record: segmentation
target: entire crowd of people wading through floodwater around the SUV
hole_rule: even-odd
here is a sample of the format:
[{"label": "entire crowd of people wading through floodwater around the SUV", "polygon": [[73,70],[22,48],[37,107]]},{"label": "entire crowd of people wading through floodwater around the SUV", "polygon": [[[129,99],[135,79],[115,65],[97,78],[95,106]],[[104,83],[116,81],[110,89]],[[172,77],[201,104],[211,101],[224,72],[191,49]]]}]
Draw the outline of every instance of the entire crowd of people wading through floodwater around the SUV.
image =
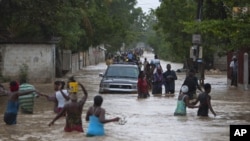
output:
[{"label": "entire crowd of people wading through floodwater around the SUV", "polygon": [[[144,58],[143,63],[140,63],[139,61],[141,54],[138,52],[128,52],[122,56],[116,56],[116,59],[113,61],[128,61],[136,62],[138,64],[140,71],[137,83],[138,98],[150,97],[150,91],[152,95],[162,95],[162,86],[165,87],[165,95],[175,95],[175,81],[178,78],[175,71],[171,69],[171,64],[166,65],[166,71],[164,72],[157,55],[155,55],[155,58],[151,61]],[[107,65],[110,63],[113,62],[108,62]],[[83,92],[81,98],[78,99],[77,92],[69,91],[70,82],[76,82],[80,87]],[[70,77],[67,83],[63,81],[55,81],[55,92],[53,95],[39,92],[33,85],[28,84],[25,80],[21,80],[20,85],[17,81],[11,81],[9,83],[9,88],[9,90],[6,90],[0,85],[0,95],[8,96],[8,103],[4,113],[4,122],[7,125],[17,123],[19,107],[21,112],[32,114],[34,98],[41,96],[54,103],[53,109],[56,116],[49,123],[49,126],[52,126],[59,118],[64,117],[66,120],[64,126],[65,132],[84,132],[82,127],[82,109],[88,98],[88,92],[85,87],[73,77]],[[211,85],[206,83],[203,88],[204,91],[198,84],[195,70],[190,69],[179,91],[174,115],[185,116],[186,108],[198,108],[197,116],[207,117],[209,110],[214,116],[216,116],[210,102],[211,96],[209,93],[211,91]],[[196,94],[197,89],[200,90],[200,94],[198,95]],[[89,122],[86,136],[102,136],[105,135],[104,124],[117,122],[120,118],[105,118],[106,111],[101,107],[103,103],[101,95],[96,95],[93,101],[93,106],[89,107],[85,116],[85,120]],[[197,103],[199,103],[199,105],[197,105]]]}]

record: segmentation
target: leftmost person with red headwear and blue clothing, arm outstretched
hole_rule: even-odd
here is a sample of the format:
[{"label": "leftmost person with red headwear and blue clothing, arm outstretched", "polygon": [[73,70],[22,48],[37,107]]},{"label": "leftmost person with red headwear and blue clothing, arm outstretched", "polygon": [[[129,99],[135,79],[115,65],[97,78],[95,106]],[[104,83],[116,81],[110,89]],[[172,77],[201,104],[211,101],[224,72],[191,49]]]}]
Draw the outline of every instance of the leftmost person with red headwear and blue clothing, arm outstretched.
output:
[{"label": "leftmost person with red headwear and blue clothing, arm outstretched", "polygon": [[26,90],[19,92],[19,84],[16,81],[10,82],[10,91],[4,90],[2,87],[0,88],[1,95],[8,96],[8,103],[6,107],[6,111],[4,113],[4,122],[7,125],[16,124],[18,109],[19,109],[19,96],[28,95],[36,92],[36,90]]}]

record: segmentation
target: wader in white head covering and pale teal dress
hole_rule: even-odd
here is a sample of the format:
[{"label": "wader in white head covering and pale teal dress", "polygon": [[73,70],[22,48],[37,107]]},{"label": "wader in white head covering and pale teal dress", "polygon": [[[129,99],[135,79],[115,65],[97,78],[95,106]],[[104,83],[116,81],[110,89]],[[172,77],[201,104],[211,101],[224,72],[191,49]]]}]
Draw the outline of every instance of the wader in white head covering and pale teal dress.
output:
[{"label": "wader in white head covering and pale teal dress", "polygon": [[180,94],[178,96],[177,106],[174,112],[175,116],[185,116],[187,114],[186,107],[188,108],[198,108],[198,106],[191,105],[189,103],[188,86],[183,85],[181,87]]}]

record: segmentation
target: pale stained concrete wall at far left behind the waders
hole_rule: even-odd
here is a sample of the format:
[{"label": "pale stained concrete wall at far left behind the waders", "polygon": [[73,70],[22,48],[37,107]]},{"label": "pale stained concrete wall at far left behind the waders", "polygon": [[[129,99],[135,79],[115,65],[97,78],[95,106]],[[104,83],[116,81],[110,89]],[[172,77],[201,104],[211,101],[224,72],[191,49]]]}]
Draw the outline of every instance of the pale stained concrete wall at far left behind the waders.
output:
[{"label": "pale stained concrete wall at far left behind the waders", "polygon": [[2,75],[18,79],[20,66],[28,66],[30,82],[53,82],[55,79],[54,44],[1,44]]}]

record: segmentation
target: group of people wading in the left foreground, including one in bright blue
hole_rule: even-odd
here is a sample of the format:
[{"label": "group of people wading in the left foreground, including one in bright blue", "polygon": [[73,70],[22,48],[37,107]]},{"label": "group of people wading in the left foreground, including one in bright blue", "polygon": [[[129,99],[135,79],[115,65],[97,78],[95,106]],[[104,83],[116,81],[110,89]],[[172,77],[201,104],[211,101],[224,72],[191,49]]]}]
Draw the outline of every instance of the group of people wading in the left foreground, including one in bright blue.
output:
[{"label": "group of people wading in the left foreground, including one in bright blue", "polygon": [[[71,92],[69,83],[75,82],[82,90],[83,96],[78,99],[77,92]],[[35,89],[31,84],[26,81],[22,83],[11,81],[9,83],[9,90],[6,90],[0,85],[0,96],[8,96],[6,111],[4,113],[4,122],[6,125],[17,124],[17,115],[19,107],[24,114],[33,114],[34,98],[36,96],[45,97],[48,101],[54,103],[53,111],[56,116],[49,122],[48,126],[52,126],[56,120],[64,117],[66,120],[64,131],[65,132],[84,132],[82,127],[82,109],[88,98],[88,92],[85,87],[75,81],[73,77],[69,78],[65,88],[64,81],[54,82],[54,94],[43,94]],[[26,89],[23,89],[25,87]],[[23,90],[21,90],[23,89]],[[101,95],[94,97],[93,106],[89,107],[86,112],[85,120],[89,123],[86,136],[103,136],[105,135],[104,124],[109,122],[117,122],[119,117],[107,119],[105,118],[106,111],[102,108],[103,98]]]}]

